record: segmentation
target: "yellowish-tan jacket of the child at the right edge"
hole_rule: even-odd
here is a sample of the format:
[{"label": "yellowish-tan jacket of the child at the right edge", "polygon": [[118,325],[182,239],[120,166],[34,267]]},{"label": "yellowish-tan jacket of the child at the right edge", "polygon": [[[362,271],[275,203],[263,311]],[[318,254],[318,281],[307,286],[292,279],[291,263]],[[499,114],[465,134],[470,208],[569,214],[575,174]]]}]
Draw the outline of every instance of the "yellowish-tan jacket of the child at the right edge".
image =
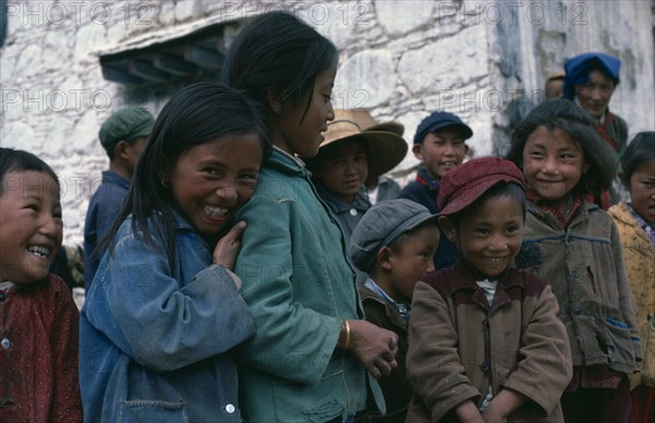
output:
[{"label": "yellowish-tan jacket of the child at the right edge", "polygon": [[[626,271],[635,303],[636,325],[640,328],[642,354],[644,358],[641,374],[636,374],[644,385],[655,386],[655,245],[636,223],[626,203],[609,209],[623,245]],[[639,382],[639,380],[636,380]]]}]

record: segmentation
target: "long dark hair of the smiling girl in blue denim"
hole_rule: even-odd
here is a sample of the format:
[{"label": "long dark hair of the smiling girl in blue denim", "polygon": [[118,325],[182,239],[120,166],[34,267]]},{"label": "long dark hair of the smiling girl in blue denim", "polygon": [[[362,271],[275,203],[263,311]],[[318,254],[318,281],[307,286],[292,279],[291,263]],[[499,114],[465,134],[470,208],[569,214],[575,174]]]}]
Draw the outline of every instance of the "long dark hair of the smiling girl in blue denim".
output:
[{"label": "long dark hair of the smiling girl in blue denim", "polygon": [[262,145],[262,159],[265,159],[272,148],[265,133],[265,117],[261,106],[242,92],[211,82],[180,89],[157,117],[150,141],[136,164],[122,210],[102,244],[107,246],[122,221],[132,215],[132,231],[154,246],[146,222],[156,211],[163,217],[163,234],[174,268],[174,201],[170,188],[162,183],[162,171],[174,166],[181,153],[230,134],[257,134]]}]

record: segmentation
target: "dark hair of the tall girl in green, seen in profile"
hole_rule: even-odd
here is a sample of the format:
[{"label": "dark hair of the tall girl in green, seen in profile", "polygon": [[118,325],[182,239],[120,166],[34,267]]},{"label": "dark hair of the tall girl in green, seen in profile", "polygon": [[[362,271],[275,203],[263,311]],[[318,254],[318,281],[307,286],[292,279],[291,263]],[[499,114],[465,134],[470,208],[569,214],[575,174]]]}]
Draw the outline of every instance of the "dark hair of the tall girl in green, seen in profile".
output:
[{"label": "dark hair of the tall girl in green, seen in profile", "polygon": [[[245,89],[266,109],[271,93],[284,110],[311,93],[317,76],[337,61],[332,41],[293,14],[275,11],[257,16],[237,35],[222,81]],[[311,96],[306,113],[310,101]]]}]

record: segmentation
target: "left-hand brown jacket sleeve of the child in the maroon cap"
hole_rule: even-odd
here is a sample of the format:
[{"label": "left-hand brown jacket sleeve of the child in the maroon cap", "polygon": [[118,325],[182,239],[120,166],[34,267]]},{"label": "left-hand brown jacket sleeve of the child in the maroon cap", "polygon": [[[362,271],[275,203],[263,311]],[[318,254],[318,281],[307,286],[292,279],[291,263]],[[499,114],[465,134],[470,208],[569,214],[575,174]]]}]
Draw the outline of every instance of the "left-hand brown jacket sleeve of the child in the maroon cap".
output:
[{"label": "left-hand brown jacket sleeve of the child in the maroon cap", "polygon": [[457,334],[445,300],[418,282],[408,328],[407,377],[433,422],[480,392],[471,385],[457,352]]}]

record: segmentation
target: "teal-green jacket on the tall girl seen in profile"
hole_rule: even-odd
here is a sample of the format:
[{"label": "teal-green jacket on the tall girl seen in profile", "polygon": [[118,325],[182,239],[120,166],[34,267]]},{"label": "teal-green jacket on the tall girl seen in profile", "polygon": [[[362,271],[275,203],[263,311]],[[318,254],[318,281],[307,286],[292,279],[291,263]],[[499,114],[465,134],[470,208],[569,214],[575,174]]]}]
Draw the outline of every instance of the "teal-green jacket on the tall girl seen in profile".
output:
[{"label": "teal-green jacket on the tall girl seen in profile", "polygon": [[364,313],[344,235],[309,176],[275,148],[236,217],[248,227],[235,271],[257,328],[236,352],[246,421],[345,418],[364,411],[367,399],[384,411],[374,378],[335,349],[342,319]]}]

